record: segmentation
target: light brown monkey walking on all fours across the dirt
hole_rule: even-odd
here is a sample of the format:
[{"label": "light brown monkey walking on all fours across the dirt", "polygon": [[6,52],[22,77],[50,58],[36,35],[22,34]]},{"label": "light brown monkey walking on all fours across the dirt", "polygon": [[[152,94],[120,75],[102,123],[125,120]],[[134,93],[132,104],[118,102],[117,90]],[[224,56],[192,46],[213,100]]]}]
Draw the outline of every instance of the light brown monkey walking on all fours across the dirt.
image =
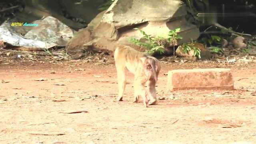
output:
[{"label": "light brown monkey walking on all fours across the dirt", "polygon": [[156,104],[155,86],[160,72],[160,62],[153,56],[138,52],[130,46],[117,46],[114,50],[114,60],[118,79],[117,100],[122,101],[126,86],[126,70],[128,70],[134,74],[134,102],[139,102],[140,96],[145,107]]}]

